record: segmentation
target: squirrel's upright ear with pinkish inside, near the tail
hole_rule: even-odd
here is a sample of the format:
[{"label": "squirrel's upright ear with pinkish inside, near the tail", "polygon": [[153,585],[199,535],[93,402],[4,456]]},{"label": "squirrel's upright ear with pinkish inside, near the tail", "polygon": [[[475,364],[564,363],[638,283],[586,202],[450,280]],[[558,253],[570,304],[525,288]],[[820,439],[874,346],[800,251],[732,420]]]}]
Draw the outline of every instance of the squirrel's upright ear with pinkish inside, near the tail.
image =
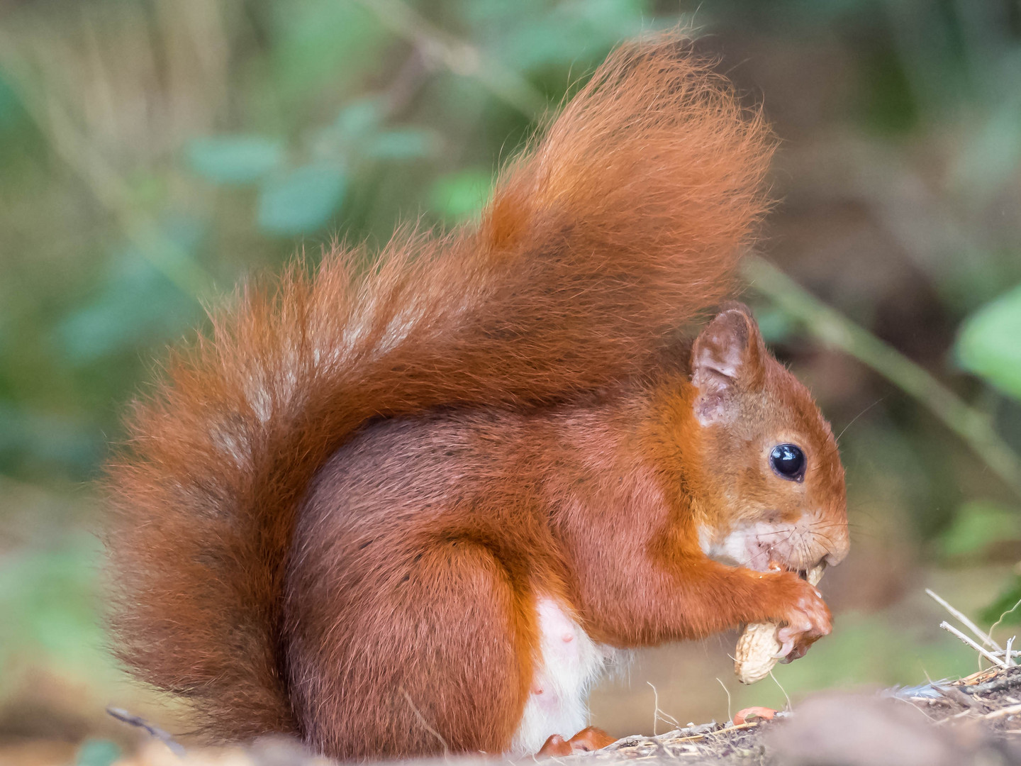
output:
[{"label": "squirrel's upright ear with pinkish inside, near the tail", "polygon": [[751,309],[727,303],[691,347],[691,382],[698,389],[695,416],[703,426],[728,419],[736,390],[762,384],[766,354]]}]

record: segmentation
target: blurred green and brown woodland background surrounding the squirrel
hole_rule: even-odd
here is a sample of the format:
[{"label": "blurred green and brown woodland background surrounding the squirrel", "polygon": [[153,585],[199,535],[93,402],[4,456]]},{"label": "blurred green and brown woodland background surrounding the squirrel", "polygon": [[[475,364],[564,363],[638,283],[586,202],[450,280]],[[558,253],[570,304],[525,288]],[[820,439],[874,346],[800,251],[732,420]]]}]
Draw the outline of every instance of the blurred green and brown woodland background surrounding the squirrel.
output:
[{"label": "blurred green and brown woodland background surrounding the squirrel", "polygon": [[983,627],[1021,599],[1021,2],[2,0],[0,760],[109,763],[107,705],[180,730],[104,649],[93,481],[203,304],[472,217],[617,42],[679,21],[783,141],[744,299],[840,433],[854,545],[776,681],[738,687],[734,635],[658,649],[594,723],[978,668],[924,589]]}]

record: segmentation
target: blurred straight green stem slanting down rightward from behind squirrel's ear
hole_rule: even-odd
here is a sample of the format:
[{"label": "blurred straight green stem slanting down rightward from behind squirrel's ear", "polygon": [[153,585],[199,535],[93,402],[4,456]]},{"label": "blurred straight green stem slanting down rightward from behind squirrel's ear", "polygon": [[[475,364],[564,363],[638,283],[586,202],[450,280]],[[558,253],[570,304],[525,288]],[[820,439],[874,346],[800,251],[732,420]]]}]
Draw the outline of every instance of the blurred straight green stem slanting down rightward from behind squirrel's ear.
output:
[{"label": "blurred straight green stem slanting down rightward from behind squirrel's ear", "polygon": [[772,264],[749,258],[744,273],[756,290],[800,321],[824,344],[850,354],[928,409],[1021,496],[1021,458],[996,433],[986,415],[964,401],[924,368],[823,303]]}]

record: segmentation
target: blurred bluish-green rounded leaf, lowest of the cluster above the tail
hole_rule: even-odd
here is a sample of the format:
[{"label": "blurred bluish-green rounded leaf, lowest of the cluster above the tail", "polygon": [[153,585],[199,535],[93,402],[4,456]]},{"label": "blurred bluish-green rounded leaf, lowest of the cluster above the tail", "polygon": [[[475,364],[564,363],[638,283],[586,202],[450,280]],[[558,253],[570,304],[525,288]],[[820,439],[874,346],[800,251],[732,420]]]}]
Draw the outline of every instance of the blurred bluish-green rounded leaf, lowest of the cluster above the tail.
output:
[{"label": "blurred bluish-green rounded leaf, lowest of the cluster above the tail", "polygon": [[334,163],[308,164],[262,187],[258,225],[271,234],[307,234],[323,227],[344,198],[347,178]]}]

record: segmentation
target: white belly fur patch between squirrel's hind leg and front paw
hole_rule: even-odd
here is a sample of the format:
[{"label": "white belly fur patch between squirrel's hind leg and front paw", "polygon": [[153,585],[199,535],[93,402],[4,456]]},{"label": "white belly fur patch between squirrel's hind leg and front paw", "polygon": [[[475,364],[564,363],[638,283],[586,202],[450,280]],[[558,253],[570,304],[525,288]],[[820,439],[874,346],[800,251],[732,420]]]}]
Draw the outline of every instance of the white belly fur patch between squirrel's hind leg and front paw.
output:
[{"label": "white belly fur patch between squirrel's hind leg and front paw", "polygon": [[551,599],[536,603],[539,651],[531,693],[510,745],[510,753],[536,753],[550,734],[565,739],[588,725],[588,692],[616,650],[593,641]]}]

